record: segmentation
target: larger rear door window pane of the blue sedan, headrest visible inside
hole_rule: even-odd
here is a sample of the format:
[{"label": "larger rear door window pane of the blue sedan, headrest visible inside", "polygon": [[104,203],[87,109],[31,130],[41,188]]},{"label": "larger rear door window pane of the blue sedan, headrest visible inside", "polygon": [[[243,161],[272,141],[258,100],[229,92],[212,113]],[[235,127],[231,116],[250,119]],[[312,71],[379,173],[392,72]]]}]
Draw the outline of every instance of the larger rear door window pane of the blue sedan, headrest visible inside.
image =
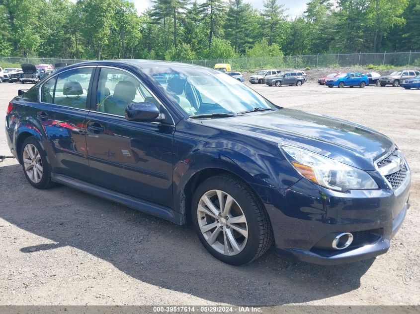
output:
[{"label": "larger rear door window pane of the blue sedan, headrest visible inside", "polygon": [[92,68],[84,67],[61,73],[57,77],[53,103],[72,108],[86,109],[87,88]]}]

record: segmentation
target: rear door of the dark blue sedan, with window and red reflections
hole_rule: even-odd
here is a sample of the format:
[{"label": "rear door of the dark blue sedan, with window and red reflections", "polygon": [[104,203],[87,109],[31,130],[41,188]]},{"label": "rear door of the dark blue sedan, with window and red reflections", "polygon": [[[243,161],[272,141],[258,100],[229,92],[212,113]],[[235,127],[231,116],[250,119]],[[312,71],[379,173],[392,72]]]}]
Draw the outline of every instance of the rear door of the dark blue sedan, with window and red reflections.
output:
[{"label": "rear door of the dark blue sedan, with window and red reflections", "polygon": [[85,119],[95,66],[62,72],[41,86],[35,117],[47,135],[52,171],[89,181]]}]

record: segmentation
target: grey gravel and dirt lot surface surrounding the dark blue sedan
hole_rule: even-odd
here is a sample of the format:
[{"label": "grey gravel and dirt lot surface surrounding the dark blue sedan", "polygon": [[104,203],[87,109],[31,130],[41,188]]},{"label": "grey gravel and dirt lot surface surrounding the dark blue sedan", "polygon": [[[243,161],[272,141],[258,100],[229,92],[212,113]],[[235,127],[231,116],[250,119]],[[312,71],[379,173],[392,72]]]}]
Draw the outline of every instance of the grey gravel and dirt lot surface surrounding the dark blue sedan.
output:
[{"label": "grey gravel and dirt lot surface surrounding the dark blue sedan", "polygon": [[[20,84],[0,84],[0,112]],[[36,190],[0,163],[1,305],[420,304],[420,90],[252,85],[273,102],[337,116],[393,138],[413,171],[411,208],[390,251],[324,267],[272,251],[234,267],[192,228],[59,186]],[[0,119],[0,155],[9,155]]]}]

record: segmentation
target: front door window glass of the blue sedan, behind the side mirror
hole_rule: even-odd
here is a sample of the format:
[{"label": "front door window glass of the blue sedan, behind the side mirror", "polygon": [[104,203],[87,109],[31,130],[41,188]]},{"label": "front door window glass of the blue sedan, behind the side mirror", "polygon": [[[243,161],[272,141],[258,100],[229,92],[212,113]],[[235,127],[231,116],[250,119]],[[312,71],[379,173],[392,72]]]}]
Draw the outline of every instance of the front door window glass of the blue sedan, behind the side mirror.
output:
[{"label": "front door window glass of the blue sedan, behind the side mirror", "polygon": [[132,103],[151,102],[160,108],[159,102],[132,74],[114,68],[101,68],[96,111],[125,116],[125,108]]}]

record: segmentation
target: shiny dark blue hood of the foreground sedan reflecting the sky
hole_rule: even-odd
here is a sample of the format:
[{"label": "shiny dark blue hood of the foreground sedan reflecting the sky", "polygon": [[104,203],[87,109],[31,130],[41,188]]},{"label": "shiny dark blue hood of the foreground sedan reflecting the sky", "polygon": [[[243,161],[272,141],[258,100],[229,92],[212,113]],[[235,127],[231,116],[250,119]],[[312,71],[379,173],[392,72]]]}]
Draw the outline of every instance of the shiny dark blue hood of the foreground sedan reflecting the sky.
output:
[{"label": "shiny dark blue hood of the foreground sedan reflecting the sky", "polygon": [[286,108],[202,120],[202,123],[246,136],[299,146],[366,171],[375,170],[373,161],[394,146],[390,138],[373,129]]}]

